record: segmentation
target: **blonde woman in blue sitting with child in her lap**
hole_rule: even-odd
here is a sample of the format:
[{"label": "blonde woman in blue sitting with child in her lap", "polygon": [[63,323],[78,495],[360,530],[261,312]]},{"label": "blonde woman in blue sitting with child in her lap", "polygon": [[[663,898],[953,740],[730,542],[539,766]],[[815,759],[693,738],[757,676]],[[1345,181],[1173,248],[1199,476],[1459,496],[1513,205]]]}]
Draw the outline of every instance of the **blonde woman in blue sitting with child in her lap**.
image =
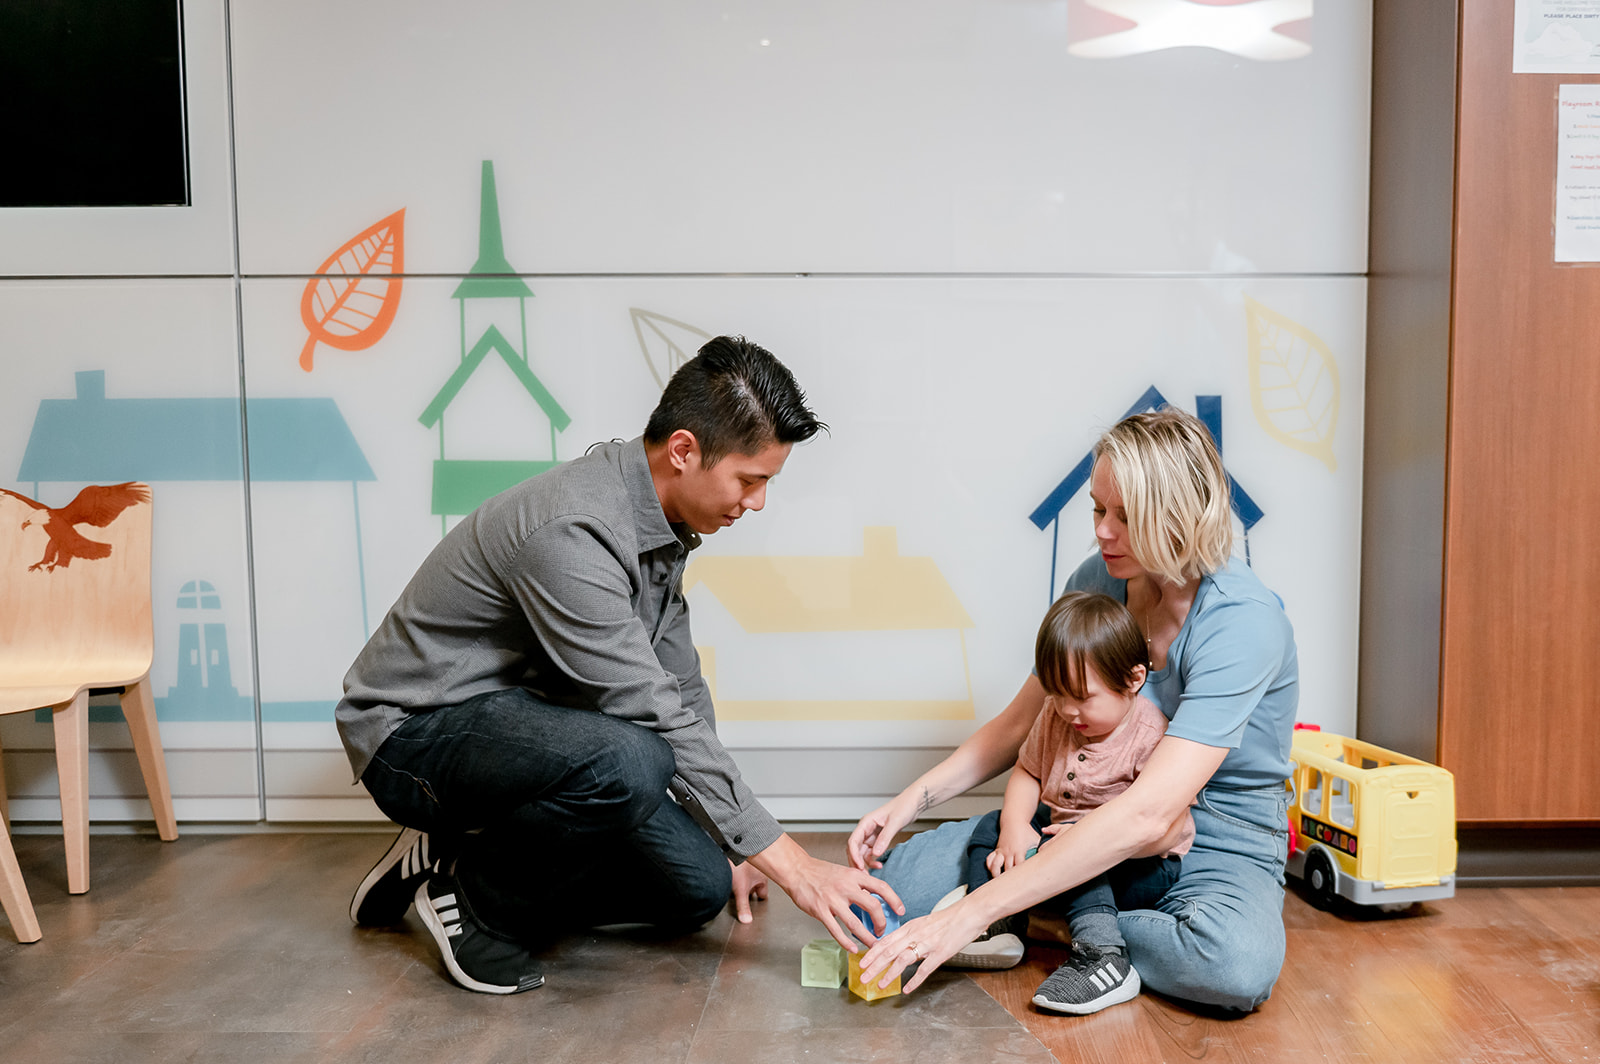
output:
[{"label": "blonde woman in blue sitting with child in her lap", "polygon": [[1166,408],[1118,422],[1094,446],[1090,494],[1099,552],[1066,590],[1102,592],[1133,613],[1147,646],[1141,693],[1168,718],[1166,734],[1126,790],[1029,861],[930,912],[962,880],[976,818],[893,851],[890,842],[1016,762],[1045,706],[1045,688],[1030,675],[998,717],[851,834],[851,862],[882,867],[907,917],[918,917],[866,954],[864,976],[882,981],[922,962],[906,984],[914,990],[997,920],[1130,858],[1166,853],[1192,813],[1195,838],[1176,883],[1152,907],[1122,910],[1118,930],[1146,987],[1248,1011],[1283,968],[1294,634],[1278,598],[1230,557],[1227,474],[1197,418]]}]

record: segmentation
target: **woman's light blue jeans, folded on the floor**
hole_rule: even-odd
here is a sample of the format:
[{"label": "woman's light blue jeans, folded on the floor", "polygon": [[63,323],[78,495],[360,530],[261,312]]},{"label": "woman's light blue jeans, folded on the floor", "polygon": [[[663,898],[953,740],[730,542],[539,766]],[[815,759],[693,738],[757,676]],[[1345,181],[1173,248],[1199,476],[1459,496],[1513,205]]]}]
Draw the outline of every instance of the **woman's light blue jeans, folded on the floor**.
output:
[{"label": "woman's light blue jeans, folded on the floor", "polygon": [[[1186,1002],[1250,1011],[1283,970],[1283,861],[1288,792],[1206,787],[1190,810],[1195,843],[1155,909],[1118,914],[1144,986]],[[978,818],[941,824],[890,851],[878,875],[926,915],[962,883]]]}]

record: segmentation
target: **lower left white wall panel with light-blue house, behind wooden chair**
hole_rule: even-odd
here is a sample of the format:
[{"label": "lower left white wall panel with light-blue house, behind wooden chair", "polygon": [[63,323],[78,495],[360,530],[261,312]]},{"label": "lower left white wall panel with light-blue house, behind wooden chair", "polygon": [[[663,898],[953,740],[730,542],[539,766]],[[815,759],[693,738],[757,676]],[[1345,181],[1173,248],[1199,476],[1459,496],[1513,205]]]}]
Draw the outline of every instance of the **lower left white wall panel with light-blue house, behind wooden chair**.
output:
[{"label": "lower left white wall panel with light-blue house, behind wooden chair", "polygon": [[[234,798],[248,797],[246,819],[259,818],[232,282],[6,282],[0,322],[0,486],[59,507],[85,483],[150,483],[150,682],[173,797],[205,819],[235,816]],[[90,714],[120,717],[114,704]],[[53,749],[32,717],[5,730],[8,755]],[[126,728],[94,725],[91,742],[99,773]],[[96,797],[117,797],[115,779],[142,798],[136,774],[94,779]],[[22,797],[53,789],[30,773],[8,784]]]}]

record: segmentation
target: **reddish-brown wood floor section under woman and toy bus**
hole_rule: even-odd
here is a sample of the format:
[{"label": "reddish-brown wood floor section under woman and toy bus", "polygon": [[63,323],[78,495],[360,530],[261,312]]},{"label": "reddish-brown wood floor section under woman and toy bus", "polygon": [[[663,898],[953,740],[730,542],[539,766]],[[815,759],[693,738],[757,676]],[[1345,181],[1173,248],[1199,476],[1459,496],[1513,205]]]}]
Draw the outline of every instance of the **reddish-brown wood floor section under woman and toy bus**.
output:
[{"label": "reddish-brown wood floor section under woman and toy bus", "polygon": [[1333,915],[1291,886],[1288,963],[1245,1018],[1155,994],[1062,1019],[1029,998],[1058,946],[974,973],[1058,1061],[1600,1061],[1600,886],[1462,890],[1405,914]]}]

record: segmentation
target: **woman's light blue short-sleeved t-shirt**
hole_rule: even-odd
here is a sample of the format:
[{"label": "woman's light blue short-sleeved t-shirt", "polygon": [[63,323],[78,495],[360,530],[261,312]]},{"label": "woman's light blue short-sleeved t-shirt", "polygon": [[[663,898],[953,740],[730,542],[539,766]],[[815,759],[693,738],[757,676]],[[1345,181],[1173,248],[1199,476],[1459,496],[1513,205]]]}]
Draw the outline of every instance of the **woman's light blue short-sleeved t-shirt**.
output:
[{"label": "woman's light blue short-sleeved t-shirt", "polygon": [[[1128,581],[1107,573],[1099,554],[1067,578],[1064,590],[1128,602]],[[1294,629],[1277,595],[1242,562],[1200,581],[1166,667],[1149,675],[1141,694],[1166,714],[1166,734],[1227,747],[1213,784],[1264,787],[1288,779],[1299,706]]]}]

